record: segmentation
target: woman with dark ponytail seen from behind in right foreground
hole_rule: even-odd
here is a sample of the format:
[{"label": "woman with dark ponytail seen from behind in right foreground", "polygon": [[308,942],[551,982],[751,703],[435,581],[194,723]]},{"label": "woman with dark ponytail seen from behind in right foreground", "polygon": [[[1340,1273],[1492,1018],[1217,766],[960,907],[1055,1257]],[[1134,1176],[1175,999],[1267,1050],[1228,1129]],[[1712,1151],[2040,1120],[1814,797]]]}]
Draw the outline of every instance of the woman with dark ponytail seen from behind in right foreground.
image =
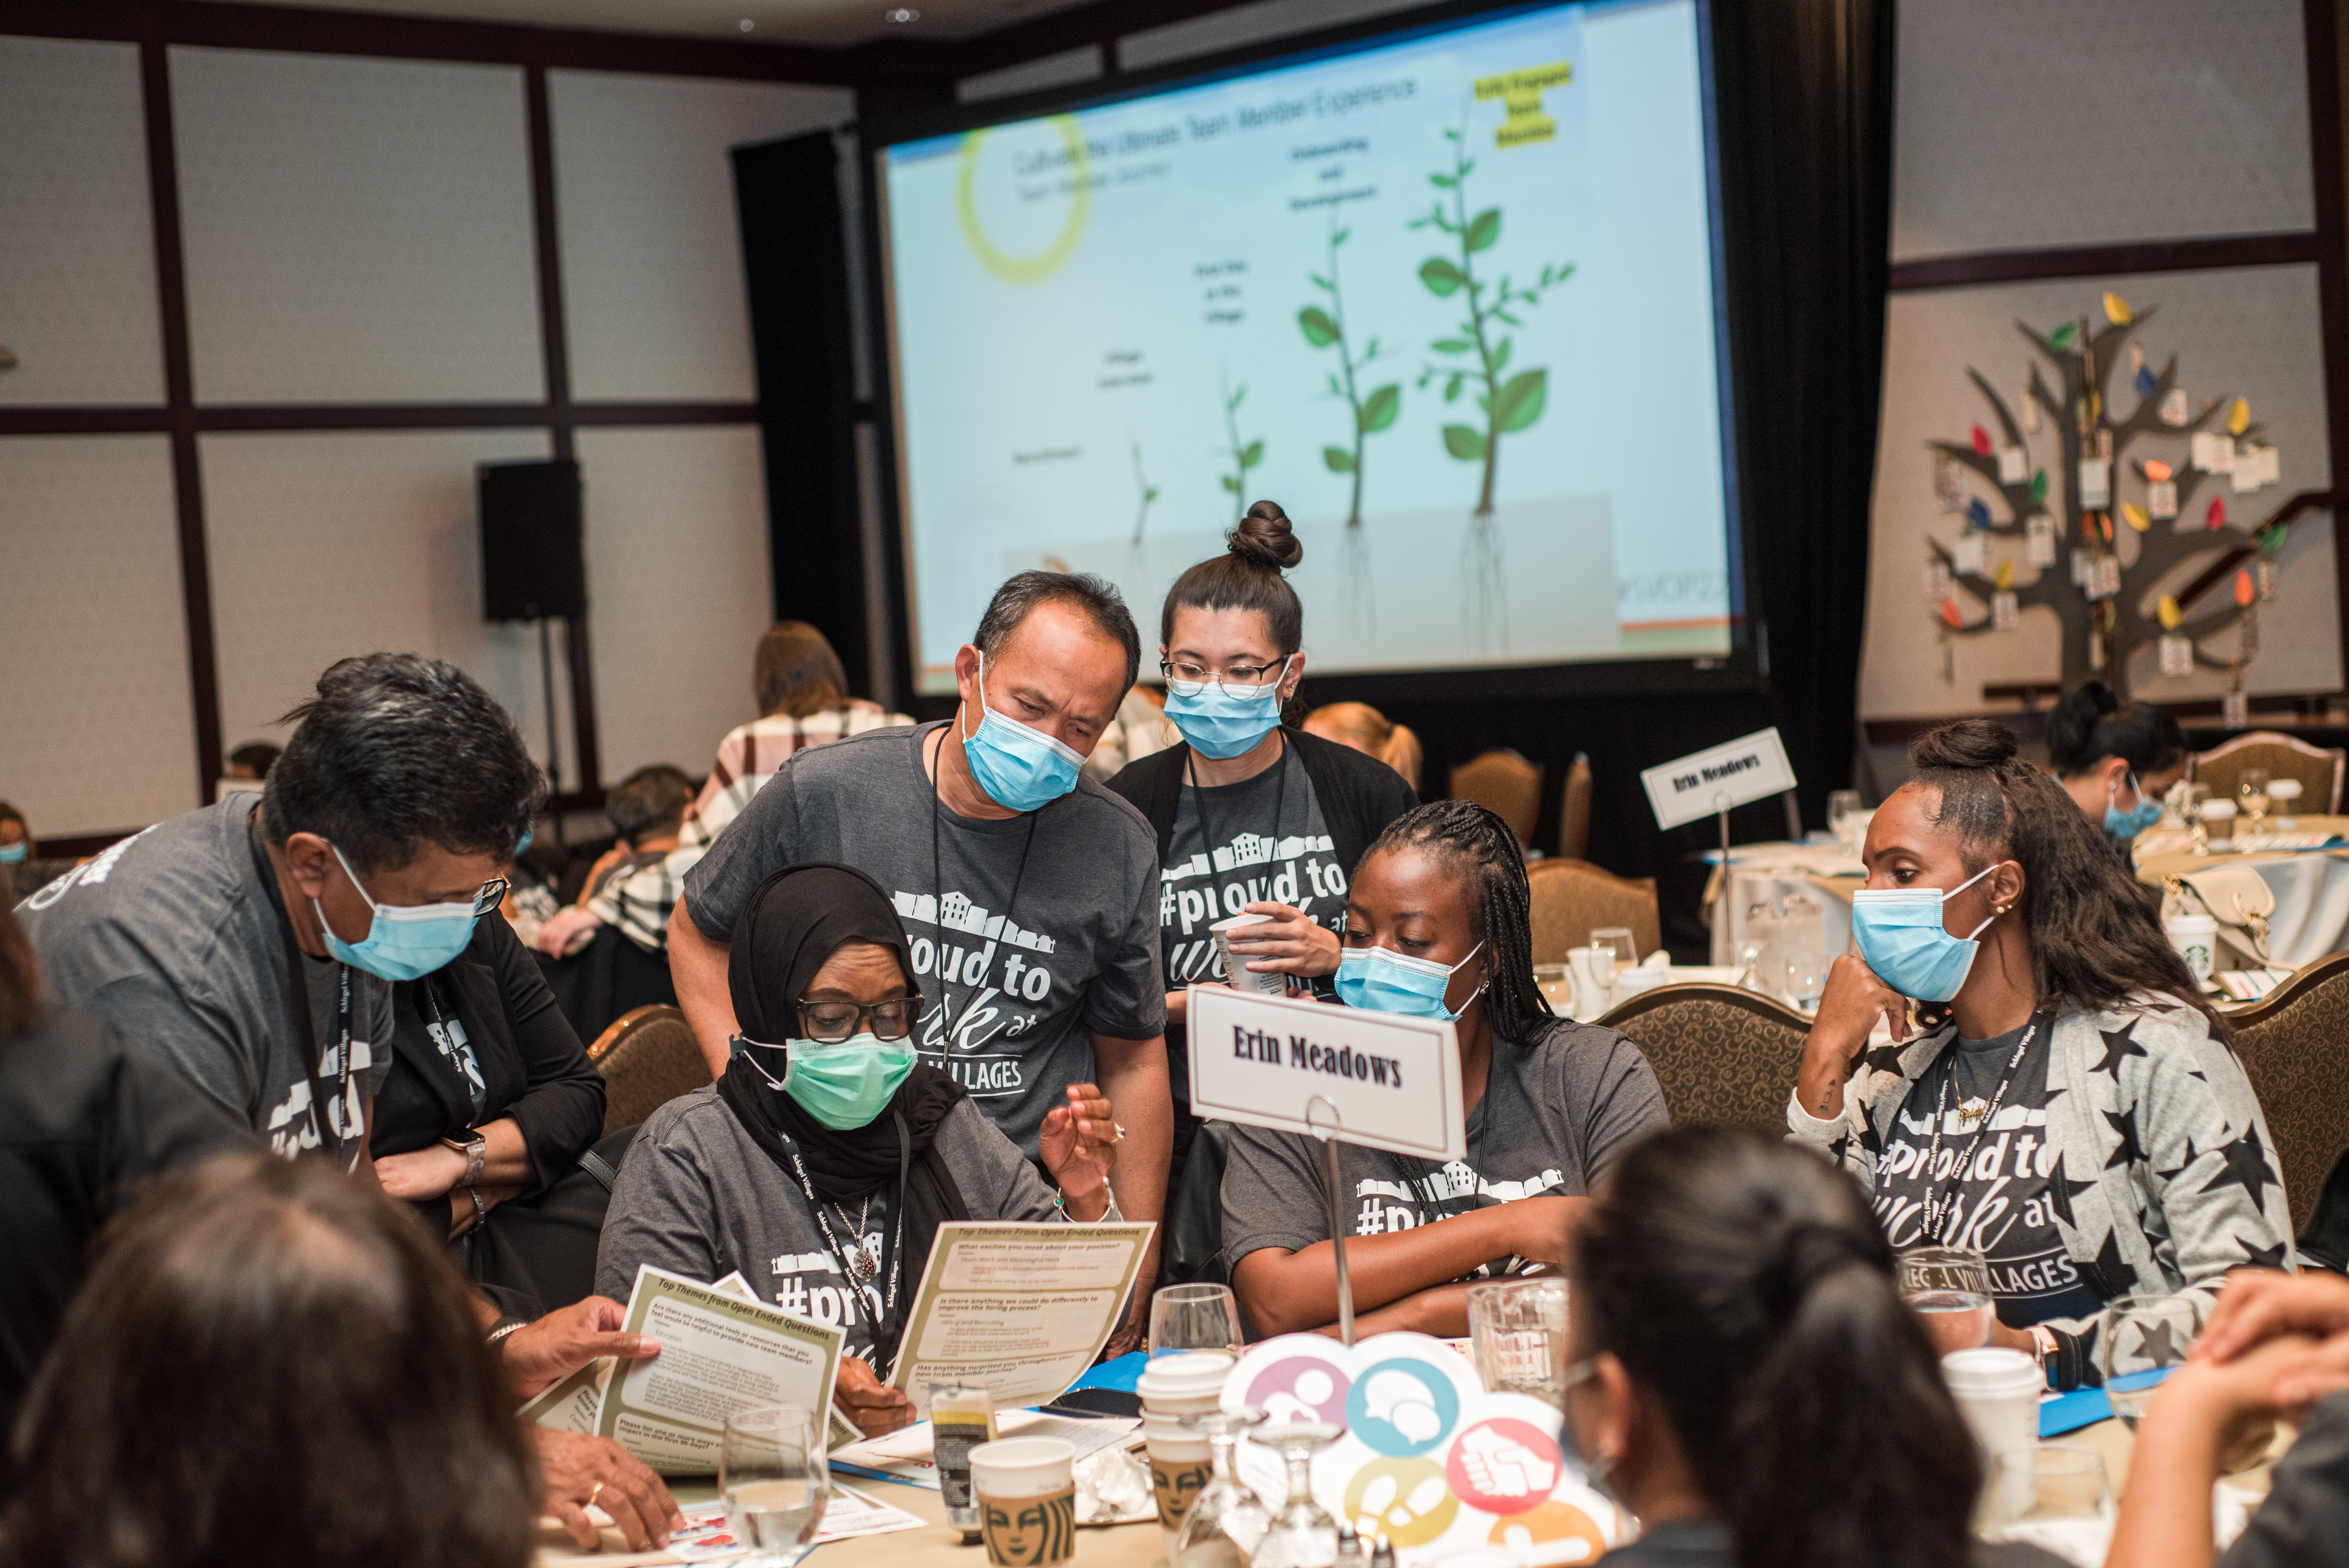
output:
[{"label": "woman with dark ponytail seen from behind in right foreground", "polygon": [[1609,1563],[2058,1566],[1968,1542],[1973,1437],[1825,1160],[1731,1127],[1640,1143],[1583,1216],[1571,1289],[1569,1437],[1640,1516]]}]

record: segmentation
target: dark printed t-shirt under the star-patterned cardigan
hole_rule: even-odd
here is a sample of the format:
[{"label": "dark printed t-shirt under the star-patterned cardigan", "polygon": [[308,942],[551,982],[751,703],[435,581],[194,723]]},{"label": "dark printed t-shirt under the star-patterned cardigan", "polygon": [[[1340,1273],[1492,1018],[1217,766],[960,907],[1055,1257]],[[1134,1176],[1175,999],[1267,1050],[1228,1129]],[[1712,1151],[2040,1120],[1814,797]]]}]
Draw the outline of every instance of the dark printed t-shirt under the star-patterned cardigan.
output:
[{"label": "dark printed t-shirt under the star-patterned cardigan", "polygon": [[[2048,1192],[2048,1171],[2055,1169],[2055,1150],[2048,1145],[2051,1030],[2041,1028],[2032,1038],[2022,1061],[2013,1066],[2004,1099],[1999,1096],[1999,1082],[2008,1080],[2006,1063],[2030,1028],[2025,1023],[1994,1040],[1957,1038],[1910,1089],[1877,1160],[1877,1221],[1891,1244],[1980,1251],[1990,1258],[1990,1289],[1999,1303],[1999,1322],[2008,1329],[2053,1317],[2093,1317],[2105,1307],[2102,1293],[2065,1251],[2055,1228],[2058,1195]],[[1992,1099],[1999,1108],[1985,1129]],[[1957,1178],[1959,1160],[1966,1160],[1964,1178]],[[1943,1232],[1926,1235],[1926,1202],[1938,1207],[1952,1181],[1954,1202]]]}]

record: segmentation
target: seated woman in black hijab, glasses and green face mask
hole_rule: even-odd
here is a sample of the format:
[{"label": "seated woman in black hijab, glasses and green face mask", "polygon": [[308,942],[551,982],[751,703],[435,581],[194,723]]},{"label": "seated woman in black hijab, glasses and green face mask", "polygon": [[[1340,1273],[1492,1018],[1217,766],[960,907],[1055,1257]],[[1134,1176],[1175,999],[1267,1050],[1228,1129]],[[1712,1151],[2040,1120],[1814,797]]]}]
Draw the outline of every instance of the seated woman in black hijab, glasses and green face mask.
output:
[{"label": "seated woman in black hijab, glasses and green face mask", "polygon": [[914,1418],[876,1366],[944,1221],[1116,1221],[1109,1101],[1071,1084],[1038,1136],[1055,1195],[963,1087],[914,1059],[923,995],[904,925],[853,866],[785,866],[735,922],[733,1059],[646,1122],[620,1167],[597,1289],[637,1268],[740,1270],[761,1300],[848,1333],[836,1399],[879,1437]]}]

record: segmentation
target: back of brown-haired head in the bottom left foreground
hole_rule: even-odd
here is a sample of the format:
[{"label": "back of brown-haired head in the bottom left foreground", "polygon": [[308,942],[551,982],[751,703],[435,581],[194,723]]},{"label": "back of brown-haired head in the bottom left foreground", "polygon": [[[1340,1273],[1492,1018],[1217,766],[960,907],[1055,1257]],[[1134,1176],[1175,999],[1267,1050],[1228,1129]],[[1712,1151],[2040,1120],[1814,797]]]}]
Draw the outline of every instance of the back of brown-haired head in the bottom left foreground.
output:
[{"label": "back of brown-haired head in the bottom left foreground", "polygon": [[319,1160],[223,1157],[124,1216],[16,1455],[7,1568],[524,1568],[536,1545],[536,1465],[463,1282]]}]

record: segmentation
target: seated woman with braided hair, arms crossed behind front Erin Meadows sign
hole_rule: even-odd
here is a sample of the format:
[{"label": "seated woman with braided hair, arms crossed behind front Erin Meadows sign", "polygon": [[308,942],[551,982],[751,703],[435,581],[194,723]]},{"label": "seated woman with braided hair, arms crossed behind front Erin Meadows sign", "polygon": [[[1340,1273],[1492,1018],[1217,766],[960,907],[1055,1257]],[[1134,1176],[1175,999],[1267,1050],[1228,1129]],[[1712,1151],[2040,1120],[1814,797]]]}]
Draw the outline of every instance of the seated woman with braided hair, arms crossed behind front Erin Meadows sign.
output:
[{"label": "seated woman with braided hair, arms crossed behind front Erin Meadows sign", "polygon": [[[1668,1124],[1647,1059],[1550,1012],[1534,984],[1532,899],[1508,824],[1470,800],[1405,812],[1346,892],[1348,1007],[1449,1019],[1468,1157],[1435,1167],[1339,1143],[1355,1329],[1468,1331],[1468,1286],[1560,1268],[1597,1178]],[[1337,1319],[1318,1138],[1231,1129],[1224,1261],[1257,1333]]]}]

